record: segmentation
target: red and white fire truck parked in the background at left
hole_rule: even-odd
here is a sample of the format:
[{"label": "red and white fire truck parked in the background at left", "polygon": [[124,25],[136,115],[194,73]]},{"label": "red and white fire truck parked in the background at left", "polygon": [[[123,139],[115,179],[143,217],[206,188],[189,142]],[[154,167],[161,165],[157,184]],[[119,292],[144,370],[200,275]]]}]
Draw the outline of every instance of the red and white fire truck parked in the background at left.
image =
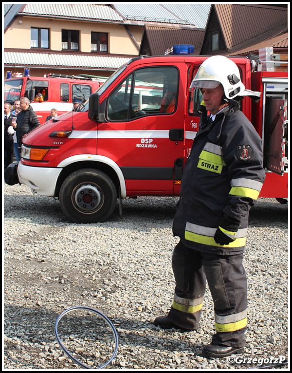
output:
[{"label": "red and white fire truck parked in the background at left", "polygon": [[[14,104],[21,97],[28,97],[31,106],[37,113],[40,124],[56,109],[58,115],[73,109],[72,101],[77,99],[85,102],[91,93],[95,92],[106,80],[98,77],[48,74],[44,77],[30,76],[26,69],[20,73],[7,74],[4,80],[4,102]],[[42,101],[35,101],[38,93]]]}]

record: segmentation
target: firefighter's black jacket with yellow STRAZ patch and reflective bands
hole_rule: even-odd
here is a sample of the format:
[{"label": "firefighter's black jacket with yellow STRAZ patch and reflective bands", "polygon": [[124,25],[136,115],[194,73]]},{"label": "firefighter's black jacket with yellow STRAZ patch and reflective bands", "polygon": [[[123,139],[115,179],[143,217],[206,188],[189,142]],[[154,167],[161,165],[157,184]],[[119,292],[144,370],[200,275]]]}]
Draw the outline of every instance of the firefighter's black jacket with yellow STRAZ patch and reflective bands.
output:
[{"label": "firefighter's black jacket with yellow STRAZ patch and reflective bands", "polygon": [[[265,179],[261,138],[246,116],[231,106],[214,122],[203,118],[183,169],[173,233],[198,251],[240,254],[249,210]],[[236,240],[221,246],[214,234],[224,215],[240,225]]]}]

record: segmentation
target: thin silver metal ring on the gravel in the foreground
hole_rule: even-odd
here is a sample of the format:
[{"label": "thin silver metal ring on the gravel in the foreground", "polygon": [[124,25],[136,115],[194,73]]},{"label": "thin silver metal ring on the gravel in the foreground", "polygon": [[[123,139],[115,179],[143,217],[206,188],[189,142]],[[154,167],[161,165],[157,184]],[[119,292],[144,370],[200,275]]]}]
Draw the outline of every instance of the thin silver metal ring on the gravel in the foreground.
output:
[{"label": "thin silver metal ring on the gravel in the foreground", "polygon": [[[99,367],[99,368],[91,368],[85,364],[83,364],[81,361],[77,360],[72,354],[70,354],[70,352],[65,348],[65,346],[63,345],[63,343],[61,342],[60,338],[59,338],[59,335],[58,335],[58,332],[57,332],[57,326],[58,326],[58,323],[60,321],[60,319],[66,315],[67,313],[69,312],[72,312],[72,311],[75,311],[75,310],[88,310],[88,311],[92,311],[92,312],[95,312],[97,315],[99,315],[100,317],[102,317],[107,323],[108,325],[110,326],[112,332],[113,332],[113,335],[114,335],[114,339],[115,339],[115,349],[114,349],[114,352],[113,354],[111,355],[110,357],[110,360],[104,364],[102,367]],[[61,315],[56,319],[56,322],[55,322],[55,336],[57,338],[57,341],[59,343],[59,346],[61,347],[61,349],[64,351],[64,353],[70,357],[70,359],[72,359],[75,363],[77,363],[78,365],[80,365],[82,368],[86,368],[86,369],[103,369],[105,368],[108,364],[110,364],[111,360],[114,358],[115,354],[117,353],[118,351],[118,334],[115,330],[115,327],[113,326],[112,322],[110,321],[110,319],[108,317],[106,317],[103,313],[101,313],[100,311],[97,311],[95,310],[94,308],[91,308],[91,307],[86,307],[86,306],[80,306],[80,307],[72,307],[72,308],[68,308],[68,310],[65,310],[64,312],[61,313]]]}]

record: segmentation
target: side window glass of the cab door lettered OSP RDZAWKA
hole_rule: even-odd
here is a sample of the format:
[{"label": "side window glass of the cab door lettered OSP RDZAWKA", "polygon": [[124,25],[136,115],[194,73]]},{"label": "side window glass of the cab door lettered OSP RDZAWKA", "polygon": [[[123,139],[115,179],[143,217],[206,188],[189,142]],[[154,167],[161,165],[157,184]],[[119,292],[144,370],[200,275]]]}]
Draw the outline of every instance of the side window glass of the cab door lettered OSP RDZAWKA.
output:
[{"label": "side window glass of the cab door lettered OSP RDZAWKA", "polygon": [[108,119],[126,121],[146,115],[169,115],[175,112],[178,77],[175,67],[136,70],[111,93],[108,100]]}]

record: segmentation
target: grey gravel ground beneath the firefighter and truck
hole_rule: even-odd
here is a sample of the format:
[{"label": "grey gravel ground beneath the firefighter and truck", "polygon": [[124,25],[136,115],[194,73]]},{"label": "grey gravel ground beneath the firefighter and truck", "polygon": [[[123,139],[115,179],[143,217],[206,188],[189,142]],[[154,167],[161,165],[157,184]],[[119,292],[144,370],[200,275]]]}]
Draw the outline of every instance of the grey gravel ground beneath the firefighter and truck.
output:
[{"label": "grey gravel ground beneath the firefighter and truck", "polygon": [[[73,224],[55,199],[33,196],[25,185],[3,188],[4,370],[81,370],[54,334],[56,318],[73,306],[97,309],[115,325],[118,352],[105,369],[251,369],[282,362],[279,356],[288,361],[288,205],[259,199],[251,211],[244,262],[249,327],[242,355],[249,360],[234,364],[201,356],[215,331],[208,289],[197,331],[152,324],[172,303],[177,198],[123,201],[122,216],[117,206],[106,223]],[[93,318],[64,317],[59,333],[79,360],[97,368],[108,361],[113,343],[109,327],[98,332],[90,326]],[[92,338],[98,346],[88,349]]]}]

